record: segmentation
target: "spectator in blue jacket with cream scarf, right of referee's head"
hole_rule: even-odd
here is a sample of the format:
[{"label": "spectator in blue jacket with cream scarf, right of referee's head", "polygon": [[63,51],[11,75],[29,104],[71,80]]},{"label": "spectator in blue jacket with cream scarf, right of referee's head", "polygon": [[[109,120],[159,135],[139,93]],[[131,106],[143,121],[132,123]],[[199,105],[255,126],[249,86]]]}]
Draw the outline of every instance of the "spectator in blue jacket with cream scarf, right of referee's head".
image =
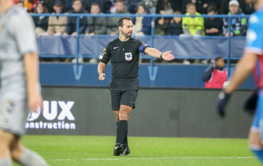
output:
[{"label": "spectator in blue jacket with cream scarf, right of referee's head", "polygon": [[[136,14],[146,14],[144,5],[139,5]],[[133,34],[135,36],[151,35],[151,17],[136,17],[133,26]]]}]

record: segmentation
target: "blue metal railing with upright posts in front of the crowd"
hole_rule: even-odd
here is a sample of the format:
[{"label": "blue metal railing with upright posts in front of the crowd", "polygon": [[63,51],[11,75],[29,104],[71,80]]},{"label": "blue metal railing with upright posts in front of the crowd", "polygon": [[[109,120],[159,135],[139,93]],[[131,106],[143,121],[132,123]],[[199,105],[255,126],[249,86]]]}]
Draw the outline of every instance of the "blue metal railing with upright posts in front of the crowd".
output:
[{"label": "blue metal railing with upright posts in front of the crowd", "polygon": [[[66,17],[76,17],[76,32],[77,35],[74,36],[76,38],[76,51],[75,55],[67,55],[67,56],[46,56],[46,55],[40,55],[40,57],[55,57],[55,58],[65,58],[65,57],[74,57],[76,59],[79,58],[79,38],[85,37],[85,35],[79,34],[79,27],[80,27],[80,17],[131,17],[135,18],[138,16],[143,16],[143,17],[151,17],[151,35],[149,36],[143,36],[145,38],[151,38],[151,47],[154,47],[154,38],[158,37],[164,37],[164,36],[154,36],[154,24],[155,24],[155,18],[172,18],[172,17],[203,17],[203,18],[248,18],[250,15],[226,15],[226,14],[218,14],[218,15],[207,15],[207,14],[202,14],[202,15],[184,15],[184,14],[171,14],[171,15],[162,15],[162,14],[31,14],[32,17],[38,17],[38,16],[66,16]],[[230,24],[231,24],[231,19],[228,19],[228,34],[230,34]],[[106,23],[105,23],[106,24]],[[116,23],[117,24],[117,23]],[[71,37],[68,35],[67,37]],[[110,35],[94,35],[92,37],[112,37]],[[174,36],[177,37],[177,36]],[[208,38],[207,36],[202,36],[200,38]],[[230,50],[231,50],[231,35],[228,35],[228,37],[224,36],[213,36],[209,38],[227,38],[228,39],[228,48],[227,48],[227,67],[228,67],[228,74],[230,76]],[[244,38],[244,37],[243,37]],[[94,55],[87,55],[87,56],[82,56],[84,58],[92,58],[95,57]],[[98,56],[96,56],[97,58]],[[201,59],[204,57],[196,57],[196,59]],[[154,66],[154,58],[149,57],[150,59],[150,65],[151,69],[153,70]],[[78,69],[79,62],[76,60],[76,69]]]}]

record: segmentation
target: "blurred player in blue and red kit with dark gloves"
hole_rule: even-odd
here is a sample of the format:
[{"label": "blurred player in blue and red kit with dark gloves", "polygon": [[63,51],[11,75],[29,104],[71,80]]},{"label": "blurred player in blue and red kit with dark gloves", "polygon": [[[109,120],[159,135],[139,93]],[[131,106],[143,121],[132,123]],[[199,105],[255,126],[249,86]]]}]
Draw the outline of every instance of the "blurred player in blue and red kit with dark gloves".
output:
[{"label": "blurred player in blue and red kit with dark gloves", "polygon": [[258,91],[246,103],[246,108],[252,107],[250,110],[253,110],[255,107],[256,110],[248,141],[249,148],[263,163],[263,0],[246,2],[252,3],[256,11],[249,18],[244,55],[238,62],[228,87],[219,94],[217,109],[221,116],[225,115],[231,93],[253,71]]}]

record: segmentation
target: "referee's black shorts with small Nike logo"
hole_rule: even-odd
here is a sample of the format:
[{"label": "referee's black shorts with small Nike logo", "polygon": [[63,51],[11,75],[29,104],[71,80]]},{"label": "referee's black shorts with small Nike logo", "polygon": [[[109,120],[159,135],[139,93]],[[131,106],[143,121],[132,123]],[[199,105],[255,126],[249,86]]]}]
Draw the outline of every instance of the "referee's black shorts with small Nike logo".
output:
[{"label": "referee's black shorts with small Nike logo", "polygon": [[138,89],[138,78],[112,78],[109,83],[112,110],[120,110],[120,105],[126,105],[134,109]]}]

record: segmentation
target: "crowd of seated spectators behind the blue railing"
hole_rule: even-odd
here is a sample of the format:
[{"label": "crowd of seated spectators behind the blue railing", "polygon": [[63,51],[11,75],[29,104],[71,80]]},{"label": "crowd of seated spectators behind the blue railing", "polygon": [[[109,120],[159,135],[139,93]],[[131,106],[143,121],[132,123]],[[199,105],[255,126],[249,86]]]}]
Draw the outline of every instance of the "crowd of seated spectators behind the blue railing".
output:
[{"label": "crowd of seated spectators behind the blue railing", "polygon": [[[16,0],[29,13],[162,14],[155,18],[154,35],[245,36],[247,18],[165,17],[167,14],[251,14],[253,6],[245,0]],[[135,36],[151,35],[151,17],[132,18]],[[76,18],[33,17],[37,35],[77,35]],[[118,17],[80,17],[79,34],[118,35]],[[188,62],[187,62],[188,63]]]}]

